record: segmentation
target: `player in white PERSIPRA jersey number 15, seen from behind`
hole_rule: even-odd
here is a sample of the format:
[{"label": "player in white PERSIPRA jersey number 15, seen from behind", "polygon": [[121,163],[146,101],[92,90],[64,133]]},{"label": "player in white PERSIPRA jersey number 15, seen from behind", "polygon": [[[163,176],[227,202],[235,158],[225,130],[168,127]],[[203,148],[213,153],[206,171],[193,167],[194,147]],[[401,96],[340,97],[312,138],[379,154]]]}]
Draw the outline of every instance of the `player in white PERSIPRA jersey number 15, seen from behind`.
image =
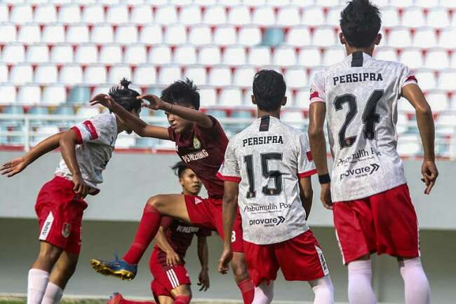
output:
[{"label": "player in white PERSIPRA jersey number 15, seen from behind", "polygon": [[[314,303],[334,303],[333,284],[318,241],[307,226],[316,174],[307,136],[280,120],[286,83],[276,71],[253,80],[258,119],[227,146],[218,176],[224,180],[224,231],[236,209],[242,216],[244,253],[255,286],[255,304],[271,303],[279,268],[288,281],[308,281]],[[227,271],[231,240],[224,240],[219,271]]]}]

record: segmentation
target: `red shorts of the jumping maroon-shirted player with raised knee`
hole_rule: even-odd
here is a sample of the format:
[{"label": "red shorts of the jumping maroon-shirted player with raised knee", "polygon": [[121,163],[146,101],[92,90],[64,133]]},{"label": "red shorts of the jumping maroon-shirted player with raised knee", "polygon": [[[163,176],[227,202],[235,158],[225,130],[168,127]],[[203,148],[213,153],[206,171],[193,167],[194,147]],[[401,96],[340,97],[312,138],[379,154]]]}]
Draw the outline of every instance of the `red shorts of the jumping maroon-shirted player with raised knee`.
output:
[{"label": "red shorts of the jumping maroon-shirted player with raised knee", "polygon": [[[223,238],[222,199],[185,195],[185,204],[192,224],[217,230]],[[231,237],[233,251],[243,252],[242,219],[239,209],[236,212]]]}]

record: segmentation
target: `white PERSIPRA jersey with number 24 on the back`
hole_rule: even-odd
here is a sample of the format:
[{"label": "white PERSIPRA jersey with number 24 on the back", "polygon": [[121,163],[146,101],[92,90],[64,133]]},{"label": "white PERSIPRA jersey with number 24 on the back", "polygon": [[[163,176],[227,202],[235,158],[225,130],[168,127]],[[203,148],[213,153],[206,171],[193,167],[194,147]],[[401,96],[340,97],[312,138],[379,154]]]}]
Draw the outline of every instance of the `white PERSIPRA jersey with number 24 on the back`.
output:
[{"label": "white PERSIPRA jersey with number 24 on the back", "polygon": [[310,102],[326,103],[334,202],[405,184],[396,122],[397,102],[409,83],[417,81],[405,65],[361,52],[316,74]]}]

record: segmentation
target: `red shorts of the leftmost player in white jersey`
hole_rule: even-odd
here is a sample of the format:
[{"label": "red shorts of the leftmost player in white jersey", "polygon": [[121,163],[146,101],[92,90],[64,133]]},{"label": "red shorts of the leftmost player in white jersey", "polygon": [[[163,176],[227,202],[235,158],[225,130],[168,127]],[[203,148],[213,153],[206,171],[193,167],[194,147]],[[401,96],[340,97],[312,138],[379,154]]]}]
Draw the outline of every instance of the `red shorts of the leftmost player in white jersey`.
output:
[{"label": "red shorts of the leftmost player in white jersey", "polygon": [[72,181],[54,177],[43,185],[36,198],[39,240],[69,252],[81,251],[81,222],[86,202],[76,198]]}]

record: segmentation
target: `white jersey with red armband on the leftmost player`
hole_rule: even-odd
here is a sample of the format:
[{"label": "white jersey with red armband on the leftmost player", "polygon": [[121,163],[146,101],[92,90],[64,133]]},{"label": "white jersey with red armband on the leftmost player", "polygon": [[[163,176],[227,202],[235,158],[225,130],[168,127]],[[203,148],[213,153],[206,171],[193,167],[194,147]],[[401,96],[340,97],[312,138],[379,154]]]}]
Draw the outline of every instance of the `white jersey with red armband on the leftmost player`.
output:
[{"label": "white jersey with red armband on the leftmost player", "polygon": [[[74,125],[72,130],[76,131],[79,137],[76,159],[82,178],[93,188],[90,193],[96,194],[99,191],[97,185],[103,181],[102,171],[105,170],[116,144],[116,116],[113,113],[102,113]],[[72,172],[63,158],[60,159],[55,175],[72,179]]]}]

